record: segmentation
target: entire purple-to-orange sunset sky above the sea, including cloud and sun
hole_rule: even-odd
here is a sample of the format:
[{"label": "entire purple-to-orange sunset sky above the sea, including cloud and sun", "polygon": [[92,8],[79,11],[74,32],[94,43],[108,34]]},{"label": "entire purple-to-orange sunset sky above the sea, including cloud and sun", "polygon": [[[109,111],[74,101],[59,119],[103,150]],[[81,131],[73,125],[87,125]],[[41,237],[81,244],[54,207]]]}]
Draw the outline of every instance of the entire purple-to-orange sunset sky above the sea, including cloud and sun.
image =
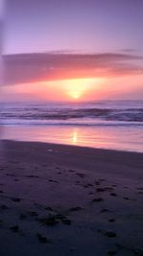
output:
[{"label": "entire purple-to-orange sunset sky above the sea, including cloud and sun", "polygon": [[1,98],[143,99],[142,13],[142,0],[6,0]]}]

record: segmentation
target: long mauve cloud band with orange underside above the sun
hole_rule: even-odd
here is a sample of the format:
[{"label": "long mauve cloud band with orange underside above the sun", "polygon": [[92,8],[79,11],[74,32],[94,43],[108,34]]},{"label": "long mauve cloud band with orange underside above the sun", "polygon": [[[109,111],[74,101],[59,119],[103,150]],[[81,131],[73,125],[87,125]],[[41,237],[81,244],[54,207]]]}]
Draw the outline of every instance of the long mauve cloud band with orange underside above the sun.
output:
[{"label": "long mauve cloud band with orange underside above the sun", "polygon": [[[4,84],[31,81],[58,80],[89,76],[118,76],[138,74],[143,67],[136,64],[141,60],[132,54],[73,54],[43,53],[3,56]],[[135,61],[135,62],[134,62]]]}]

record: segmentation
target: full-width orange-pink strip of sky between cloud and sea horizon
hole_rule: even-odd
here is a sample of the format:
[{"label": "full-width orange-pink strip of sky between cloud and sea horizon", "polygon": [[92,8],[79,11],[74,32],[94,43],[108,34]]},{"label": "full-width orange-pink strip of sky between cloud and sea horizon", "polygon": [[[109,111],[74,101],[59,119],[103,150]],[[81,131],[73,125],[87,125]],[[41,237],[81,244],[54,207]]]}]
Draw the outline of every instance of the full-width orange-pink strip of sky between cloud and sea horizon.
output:
[{"label": "full-width orange-pink strip of sky between cloud and sea horizon", "polygon": [[[142,75],[117,78],[96,77],[36,81],[1,87],[6,101],[90,101],[142,95]],[[126,85],[126,86],[125,86]],[[138,92],[138,94],[137,94]],[[124,97],[124,98],[125,98]],[[123,99],[124,99],[123,98]]]}]

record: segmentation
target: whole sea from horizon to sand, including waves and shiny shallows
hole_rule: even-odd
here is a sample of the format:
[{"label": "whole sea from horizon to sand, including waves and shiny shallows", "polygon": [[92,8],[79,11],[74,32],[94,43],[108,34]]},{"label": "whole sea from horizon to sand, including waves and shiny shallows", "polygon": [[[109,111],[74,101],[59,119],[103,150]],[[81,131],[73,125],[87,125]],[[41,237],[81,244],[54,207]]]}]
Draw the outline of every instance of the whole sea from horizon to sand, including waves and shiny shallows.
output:
[{"label": "whole sea from horizon to sand, including waves and shiny shallows", "polygon": [[0,103],[0,136],[143,152],[143,101]]}]

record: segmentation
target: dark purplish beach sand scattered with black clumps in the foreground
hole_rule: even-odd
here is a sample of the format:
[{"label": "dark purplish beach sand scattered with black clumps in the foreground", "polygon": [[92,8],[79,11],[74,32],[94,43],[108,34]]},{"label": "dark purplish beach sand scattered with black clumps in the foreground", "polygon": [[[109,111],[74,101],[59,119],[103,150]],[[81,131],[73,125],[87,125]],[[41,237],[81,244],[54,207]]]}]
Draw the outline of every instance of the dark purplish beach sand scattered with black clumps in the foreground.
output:
[{"label": "dark purplish beach sand scattered with black clumps in the foreground", "polygon": [[143,153],[1,141],[0,256],[143,255]]}]

